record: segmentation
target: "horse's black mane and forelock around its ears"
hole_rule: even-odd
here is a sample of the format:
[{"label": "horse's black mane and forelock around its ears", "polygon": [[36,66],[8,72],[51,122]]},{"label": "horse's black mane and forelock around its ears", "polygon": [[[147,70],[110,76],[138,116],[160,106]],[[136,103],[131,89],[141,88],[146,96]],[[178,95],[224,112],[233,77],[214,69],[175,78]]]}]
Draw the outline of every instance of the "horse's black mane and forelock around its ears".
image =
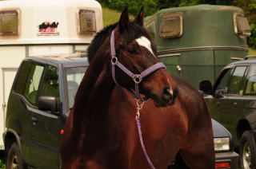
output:
[{"label": "horse's black mane and forelock around its ears", "polygon": [[[101,47],[103,41],[105,41],[106,37],[110,36],[110,33],[112,30],[118,25],[117,23],[114,23],[113,25],[106,26],[106,28],[102,29],[100,32],[98,32],[93,41],[91,41],[87,52],[88,52],[88,61],[90,62],[97,50]],[[133,41],[134,39],[145,36],[148,39],[151,40],[150,35],[146,32],[146,29],[143,29],[142,26],[139,26],[135,22],[128,22],[126,29],[124,30],[124,38],[127,42]]]}]

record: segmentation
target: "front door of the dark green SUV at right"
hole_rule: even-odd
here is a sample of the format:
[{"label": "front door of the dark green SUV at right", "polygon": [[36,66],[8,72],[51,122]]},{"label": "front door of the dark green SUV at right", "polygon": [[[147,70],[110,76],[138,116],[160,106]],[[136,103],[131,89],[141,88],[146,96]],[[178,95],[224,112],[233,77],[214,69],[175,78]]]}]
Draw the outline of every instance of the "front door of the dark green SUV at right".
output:
[{"label": "front door of the dark green SUV at right", "polygon": [[222,78],[214,86],[215,97],[212,100],[214,120],[224,125],[236,139],[238,117],[243,111],[243,86],[247,65],[226,69]]}]

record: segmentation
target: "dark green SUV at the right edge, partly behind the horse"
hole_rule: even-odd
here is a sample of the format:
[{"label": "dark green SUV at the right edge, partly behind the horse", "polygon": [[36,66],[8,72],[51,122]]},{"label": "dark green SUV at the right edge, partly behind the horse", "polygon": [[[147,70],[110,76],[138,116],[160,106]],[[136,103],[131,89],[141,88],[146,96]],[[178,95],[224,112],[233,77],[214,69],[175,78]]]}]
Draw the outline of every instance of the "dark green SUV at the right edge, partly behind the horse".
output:
[{"label": "dark green SUV at the right edge, partly behind the horse", "polygon": [[202,81],[199,88],[206,94],[212,118],[234,136],[242,169],[255,169],[256,60],[226,65],[213,87]]}]

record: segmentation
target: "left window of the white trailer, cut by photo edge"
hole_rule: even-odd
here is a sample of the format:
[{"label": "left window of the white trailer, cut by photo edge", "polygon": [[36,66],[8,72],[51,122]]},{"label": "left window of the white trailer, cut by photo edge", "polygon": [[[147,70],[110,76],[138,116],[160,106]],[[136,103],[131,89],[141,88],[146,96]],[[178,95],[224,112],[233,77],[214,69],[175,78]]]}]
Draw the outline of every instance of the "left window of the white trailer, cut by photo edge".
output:
[{"label": "left window of the white trailer, cut by photo edge", "polygon": [[0,36],[18,34],[18,11],[0,11]]}]

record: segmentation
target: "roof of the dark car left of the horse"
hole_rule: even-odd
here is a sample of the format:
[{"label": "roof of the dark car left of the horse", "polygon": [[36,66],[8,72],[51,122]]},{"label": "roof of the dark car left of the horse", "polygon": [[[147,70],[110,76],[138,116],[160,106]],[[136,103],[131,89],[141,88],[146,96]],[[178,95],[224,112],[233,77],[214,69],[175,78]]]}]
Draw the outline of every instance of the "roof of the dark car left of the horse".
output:
[{"label": "roof of the dark car left of the horse", "polygon": [[85,54],[52,54],[35,57],[26,57],[25,61],[37,61],[45,64],[61,64],[63,67],[88,66],[89,61]]}]

